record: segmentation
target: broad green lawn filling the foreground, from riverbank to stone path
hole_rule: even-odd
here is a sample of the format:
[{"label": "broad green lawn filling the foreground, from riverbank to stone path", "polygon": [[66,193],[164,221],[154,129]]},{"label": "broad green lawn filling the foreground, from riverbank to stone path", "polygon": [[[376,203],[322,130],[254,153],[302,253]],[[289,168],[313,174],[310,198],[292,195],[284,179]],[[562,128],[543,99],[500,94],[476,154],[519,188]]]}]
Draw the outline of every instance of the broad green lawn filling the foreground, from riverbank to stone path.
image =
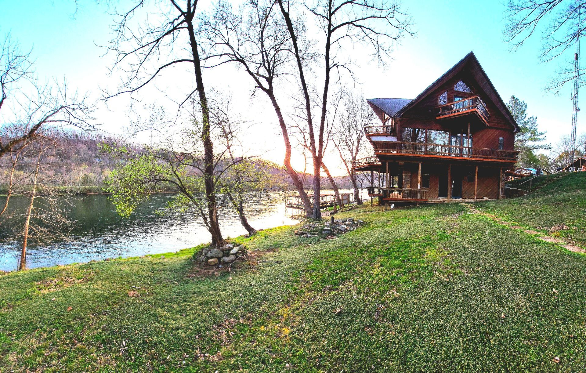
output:
[{"label": "broad green lawn filling the foreground, from riverbank to stone path", "polygon": [[[581,175],[557,183],[584,203]],[[530,225],[554,187],[482,209]],[[195,248],[2,274],[0,371],[584,370],[585,256],[459,204],[339,216],[365,223],[241,238],[254,259],[217,276]]]}]

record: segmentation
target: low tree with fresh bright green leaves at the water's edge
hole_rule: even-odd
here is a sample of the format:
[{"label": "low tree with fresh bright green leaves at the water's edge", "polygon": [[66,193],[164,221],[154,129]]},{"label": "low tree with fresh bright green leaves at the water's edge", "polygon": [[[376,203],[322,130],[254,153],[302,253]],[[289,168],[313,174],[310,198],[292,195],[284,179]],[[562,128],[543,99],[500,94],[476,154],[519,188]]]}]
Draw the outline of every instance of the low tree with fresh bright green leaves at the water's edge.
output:
[{"label": "low tree with fresh bright green leaves at the water's edge", "polygon": [[[207,208],[206,179],[211,176],[212,190],[217,198],[217,209],[228,204],[240,217],[242,226],[252,234],[255,229],[248,223],[244,212],[244,200],[250,191],[267,186],[267,178],[258,167],[257,157],[244,154],[237,141],[238,122],[231,121],[227,110],[210,103],[210,136],[202,139],[203,124],[200,122],[199,105],[194,104],[189,123],[176,132],[165,126],[161,112],[151,113],[143,127],[157,127],[158,144],[145,149],[131,150],[125,146],[112,147],[103,144],[103,152],[111,154],[118,162],[110,174],[108,191],[112,193],[119,215],[128,218],[139,205],[147,202],[151,195],[161,189],[177,191],[168,208],[177,211],[194,211],[212,236],[212,244],[222,242],[220,226],[217,229]],[[156,121],[161,121],[155,125]],[[137,127],[138,128],[138,127]],[[208,173],[208,161],[203,141],[211,141],[214,158],[212,171]]]}]

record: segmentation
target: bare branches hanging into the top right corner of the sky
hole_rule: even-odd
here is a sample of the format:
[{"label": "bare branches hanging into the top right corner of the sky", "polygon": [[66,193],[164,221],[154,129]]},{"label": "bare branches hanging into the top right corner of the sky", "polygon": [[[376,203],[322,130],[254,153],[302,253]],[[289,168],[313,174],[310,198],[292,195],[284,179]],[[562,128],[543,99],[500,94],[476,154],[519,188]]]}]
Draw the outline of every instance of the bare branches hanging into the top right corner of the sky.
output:
[{"label": "bare branches hanging into the top right corner of the sky", "polygon": [[[573,45],[578,36],[586,29],[586,2],[575,0],[510,0],[507,3],[505,27],[506,41],[516,50],[540,33],[542,41],[541,62],[560,59]],[[580,84],[584,84],[580,72]],[[548,89],[557,93],[574,79],[573,63],[561,64],[551,79]]]}]

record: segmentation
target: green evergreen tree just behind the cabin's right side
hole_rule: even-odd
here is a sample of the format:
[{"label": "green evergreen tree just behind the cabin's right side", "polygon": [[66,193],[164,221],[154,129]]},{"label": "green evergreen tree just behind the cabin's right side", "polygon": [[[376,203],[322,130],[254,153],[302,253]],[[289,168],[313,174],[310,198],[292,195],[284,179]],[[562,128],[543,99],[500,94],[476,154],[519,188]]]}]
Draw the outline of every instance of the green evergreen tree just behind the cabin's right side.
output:
[{"label": "green evergreen tree just behind the cabin's right side", "polygon": [[515,150],[519,151],[517,162],[522,167],[539,166],[537,150],[549,150],[551,146],[544,144],[545,132],[539,131],[537,117],[527,114],[527,104],[515,96],[511,96],[507,108],[519,125],[520,131],[515,134]]}]

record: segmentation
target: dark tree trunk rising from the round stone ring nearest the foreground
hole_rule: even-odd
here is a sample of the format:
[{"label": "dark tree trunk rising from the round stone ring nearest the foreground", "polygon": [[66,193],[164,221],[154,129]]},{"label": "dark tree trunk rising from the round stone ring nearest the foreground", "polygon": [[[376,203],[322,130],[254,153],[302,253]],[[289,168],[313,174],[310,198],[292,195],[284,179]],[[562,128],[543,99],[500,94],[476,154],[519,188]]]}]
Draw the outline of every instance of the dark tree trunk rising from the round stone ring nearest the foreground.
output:
[{"label": "dark tree trunk rising from the round stone ring nearest the foreground", "polygon": [[206,90],[203,86],[202,67],[200,66],[199,52],[197,50],[197,41],[195,39],[195,30],[193,28],[193,13],[185,17],[189,32],[189,43],[193,55],[193,67],[195,70],[195,81],[197,84],[197,94],[199,95],[199,104],[202,108],[202,140],[203,140],[203,162],[204,171],[203,179],[206,187],[207,212],[209,214],[209,232],[212,235],[212,245],[219,245],[222,242],[222,232],[220,232],[220,223],[217,216],[216,191],[214,185],[214,151],[212,138],[210,137],[210,115],[207,107]]}]

